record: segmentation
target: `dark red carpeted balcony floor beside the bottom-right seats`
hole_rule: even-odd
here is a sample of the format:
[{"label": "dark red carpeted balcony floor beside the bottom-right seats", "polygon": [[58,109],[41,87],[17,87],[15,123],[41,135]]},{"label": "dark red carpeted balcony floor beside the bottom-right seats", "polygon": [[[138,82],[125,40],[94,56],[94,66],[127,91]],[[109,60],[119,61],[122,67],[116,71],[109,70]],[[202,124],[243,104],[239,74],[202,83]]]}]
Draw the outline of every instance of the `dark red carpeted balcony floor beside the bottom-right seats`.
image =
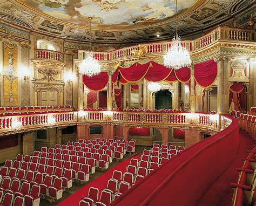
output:
[{"label": "dark red carpeted balcony floor beside the bottom-right seats", "polygon": [[[242,167],[242,157],[248,155],[247,150],[253,148],[254,141],[251,135],[239,132],[240,143],[238,153],[231,163],[230,167],[220,175],[215,182],[206,190],[205,194],[200,198],[197,205],[200,206],[221,206],[231,205],[233,197],[233,189],[230,187],[231,182],[238,181],[237,168]],[[218,151],[216,151],[218,152]]]}]

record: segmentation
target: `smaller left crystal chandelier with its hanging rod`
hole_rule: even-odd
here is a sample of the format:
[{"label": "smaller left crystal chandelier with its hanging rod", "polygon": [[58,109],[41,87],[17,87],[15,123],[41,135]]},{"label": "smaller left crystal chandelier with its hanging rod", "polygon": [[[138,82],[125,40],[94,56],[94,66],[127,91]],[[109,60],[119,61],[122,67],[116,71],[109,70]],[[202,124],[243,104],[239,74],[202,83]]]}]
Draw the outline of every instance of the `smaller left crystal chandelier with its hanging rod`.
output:
[{"label": "smaller left crystal chandelier with its hanging rod", "polygon": [[83,59],[82,63],[78,65],[79,72],[88,77],[92,77],[94,75],[98,75],[100,73],[100,65],[98,61],[93,57],[93,52],[91,50],[91,20],[92,17],[89,17],[90,20],[90,47],[89,51],[85,54],[85,59]]}]

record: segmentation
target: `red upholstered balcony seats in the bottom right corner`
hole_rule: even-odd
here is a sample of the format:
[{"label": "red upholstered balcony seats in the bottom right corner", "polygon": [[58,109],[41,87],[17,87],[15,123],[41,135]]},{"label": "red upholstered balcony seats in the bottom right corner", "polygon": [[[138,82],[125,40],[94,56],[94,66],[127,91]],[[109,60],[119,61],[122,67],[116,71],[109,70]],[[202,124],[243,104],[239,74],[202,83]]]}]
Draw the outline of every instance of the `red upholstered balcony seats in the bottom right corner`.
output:
[{"label": "red upholstered balcony seats in the bottom right corner", "polygon": [[242,158],[244,164],[242,168],[237,168],[239,178],[237,183],[231,183],[230,186],[234,190],[232,205],[254,205],[255,199],[255,186],[256,186],[256,164],[255,153],[256,147],[251,151],[246,158]]}]

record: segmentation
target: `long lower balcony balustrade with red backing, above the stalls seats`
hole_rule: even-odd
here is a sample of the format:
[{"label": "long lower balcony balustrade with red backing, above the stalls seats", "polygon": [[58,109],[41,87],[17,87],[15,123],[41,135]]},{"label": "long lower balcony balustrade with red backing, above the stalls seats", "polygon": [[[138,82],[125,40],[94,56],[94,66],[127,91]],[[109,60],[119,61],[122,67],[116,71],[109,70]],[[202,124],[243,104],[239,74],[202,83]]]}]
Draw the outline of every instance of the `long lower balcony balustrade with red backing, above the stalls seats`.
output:
[{"label": "long lower balcony balustrade with red backing, above the stalls seats", "polygon": [[218,114],[175,112],[72,111],[25,114],[0,117],[0,135],[42,128],[83,125],[88,123],[118,123],[137,127],[194,127],[218,132],[232,119]]}]

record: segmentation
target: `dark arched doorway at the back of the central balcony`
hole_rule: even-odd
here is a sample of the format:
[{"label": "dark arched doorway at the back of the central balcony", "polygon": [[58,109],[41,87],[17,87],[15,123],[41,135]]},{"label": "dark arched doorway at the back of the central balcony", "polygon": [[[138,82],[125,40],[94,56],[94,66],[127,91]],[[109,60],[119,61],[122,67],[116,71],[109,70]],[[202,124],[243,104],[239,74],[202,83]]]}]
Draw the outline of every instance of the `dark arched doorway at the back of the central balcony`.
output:
[{"label": "dark arched doorway at the back of the central balcony", "polygon": [[156,93],[156,109],[172,108],[172,93],[169,90],[160,90]]}]

